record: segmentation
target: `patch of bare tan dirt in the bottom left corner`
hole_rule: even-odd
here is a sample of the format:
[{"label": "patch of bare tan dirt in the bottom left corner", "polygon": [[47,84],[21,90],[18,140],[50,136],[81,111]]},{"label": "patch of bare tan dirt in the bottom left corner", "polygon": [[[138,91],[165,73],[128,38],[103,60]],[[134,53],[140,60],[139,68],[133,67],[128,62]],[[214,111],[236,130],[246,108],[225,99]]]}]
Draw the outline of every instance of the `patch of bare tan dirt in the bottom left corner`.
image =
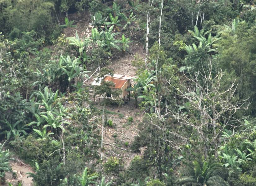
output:
[{"label": "patch of bare tan dirt in the bottom left corner", "polygon": [[22,183],[23,186],[32,186],[32,179],[31,177],[27,178],[28,172],[33,172],[31,166],[23,163],[23,162],[10,162],[12,171],[16,173],[16,179],[13,178],[13,174],[11,172],[5,173],[6,184],[3,186],[7,186],[8,183],[16,185],[17,183]]}]

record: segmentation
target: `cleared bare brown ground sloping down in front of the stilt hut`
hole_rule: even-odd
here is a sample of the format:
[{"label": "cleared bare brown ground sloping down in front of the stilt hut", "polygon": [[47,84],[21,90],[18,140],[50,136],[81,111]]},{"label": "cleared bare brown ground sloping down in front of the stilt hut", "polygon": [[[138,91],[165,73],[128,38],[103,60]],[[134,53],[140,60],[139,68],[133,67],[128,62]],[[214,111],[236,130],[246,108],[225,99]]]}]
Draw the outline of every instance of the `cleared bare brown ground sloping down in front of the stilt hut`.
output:
[{"label": "cleared bare brown ground sloping down in front of the stilt hut", "polygon": [[[102,109],[102,107],[98,107]],[[112,120],[113,126],[104,126],[104,157],[118,157],[121,158],[124,167],[127,168],[136,153],[132,153],[130,146],[134,137],[138,135],[137,126],[142,122],[142,113],[134,106],[134,100],[130,100],[128,104],[120,107],[113,105],[107,107],[104,117]],[[128,117],[132,117],[133,121],[129,122]],[[101,129],[101,125],[98,126]]]}]

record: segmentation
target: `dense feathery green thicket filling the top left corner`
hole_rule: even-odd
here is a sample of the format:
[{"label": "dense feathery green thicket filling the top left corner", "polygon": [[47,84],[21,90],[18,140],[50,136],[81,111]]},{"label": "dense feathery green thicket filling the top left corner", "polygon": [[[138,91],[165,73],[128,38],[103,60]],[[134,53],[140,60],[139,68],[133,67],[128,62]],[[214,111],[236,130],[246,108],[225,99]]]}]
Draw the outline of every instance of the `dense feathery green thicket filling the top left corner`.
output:
[{"label": "dense feathery green thicket filling the top left corner", "polygon": [[[5,32],[17,29],[21,32],[34,30],[37,36],[52,32],[53,2],[29,0],[23,2],[6,1],[4,4],[5,6],[2,7],[1,11],[4,12],[2,26]],[[11,36],[15,37],[14,32]]]}]

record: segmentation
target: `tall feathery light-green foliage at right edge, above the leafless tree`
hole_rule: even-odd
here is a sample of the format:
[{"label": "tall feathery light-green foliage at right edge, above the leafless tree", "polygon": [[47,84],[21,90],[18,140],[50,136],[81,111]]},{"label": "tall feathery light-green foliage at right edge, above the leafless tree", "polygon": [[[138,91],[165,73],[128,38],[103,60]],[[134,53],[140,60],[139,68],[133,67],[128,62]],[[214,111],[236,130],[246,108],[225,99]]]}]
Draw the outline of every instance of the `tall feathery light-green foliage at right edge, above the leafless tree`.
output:
[{"label": "tall feathery light-green foliage at right edge, above the leafless tree", "polygon": [[[228,70],[230,75],[233,72],[238,78],[237,94],[240,98],[253,97],[256,90],[252,84],[255,81],[252,75],[255,69],[255,46],[251,40],[255,35],[254,30],[255,28],[249,29],[247,23],[240,22],[235,34],[222,33],[222,39],[218,41],[218,65],[223,70]],[[238,48],[242,52],[238,52]],[[253,105],[254,101],[251,106],[254,107]]]}]

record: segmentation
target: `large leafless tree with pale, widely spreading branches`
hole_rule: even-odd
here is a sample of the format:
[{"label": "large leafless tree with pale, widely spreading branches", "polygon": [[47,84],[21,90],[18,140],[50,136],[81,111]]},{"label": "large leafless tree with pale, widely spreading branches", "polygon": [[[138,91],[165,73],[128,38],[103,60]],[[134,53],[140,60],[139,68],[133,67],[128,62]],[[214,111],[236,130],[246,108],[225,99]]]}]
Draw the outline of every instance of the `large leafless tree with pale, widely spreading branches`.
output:
[{"label": "large leafless tree with pale, widely spreading branches", "polygon": [[181,97],[182,105],[179,106],[179,111],[169,111],[178,123],[193,128],[198,140],[204,144],[205,157],[211,147],[215,150],[215,157],[218,157],[222,131],[228,128],[234,133],[243,126],[241,123],[246,117],[236,118],[236,112],[248,109],[248,99],[234,98],[238,85],[236,81],[222,90],[221,82],[225,75],[222,70],[213,78],[212,65],[209,65],[208,70],[203,70],[200,75],[200,79],[198,76],[186,77],[190,85],[185,85],[182,89],[174,87]]}]

